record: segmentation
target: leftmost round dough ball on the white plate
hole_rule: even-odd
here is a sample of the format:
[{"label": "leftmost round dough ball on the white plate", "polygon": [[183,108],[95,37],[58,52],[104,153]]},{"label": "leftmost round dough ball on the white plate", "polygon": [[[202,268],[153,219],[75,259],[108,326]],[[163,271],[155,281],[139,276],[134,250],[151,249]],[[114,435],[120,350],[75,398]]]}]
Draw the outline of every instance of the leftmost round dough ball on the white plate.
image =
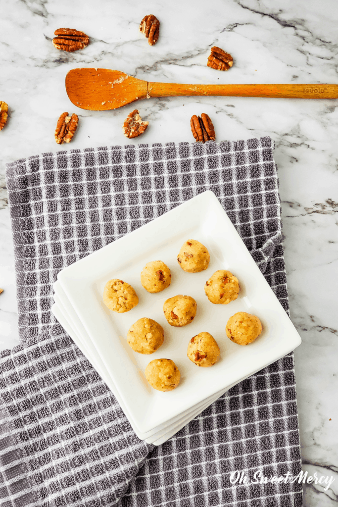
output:
[{"label": "leftmost round dough ball on the white plate", "polygon": [[138,297],[129,283],[113,278],[104,287],[103,302],[109,310],[124,313],[138,304]]}]

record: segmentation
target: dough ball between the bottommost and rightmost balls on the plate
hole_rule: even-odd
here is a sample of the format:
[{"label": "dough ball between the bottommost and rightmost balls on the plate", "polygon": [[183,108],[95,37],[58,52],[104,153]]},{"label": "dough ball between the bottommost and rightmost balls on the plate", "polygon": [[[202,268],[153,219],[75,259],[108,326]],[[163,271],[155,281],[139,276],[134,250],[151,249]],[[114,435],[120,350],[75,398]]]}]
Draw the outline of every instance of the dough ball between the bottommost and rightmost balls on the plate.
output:
[{"label": "dough ball between the bottommost and rightmost balls on the plate", "polygon": [[219,347],[210,333],[199,333],[194,336],[188,345],[187,356],[196,366],[208,368],[219,358]]}]

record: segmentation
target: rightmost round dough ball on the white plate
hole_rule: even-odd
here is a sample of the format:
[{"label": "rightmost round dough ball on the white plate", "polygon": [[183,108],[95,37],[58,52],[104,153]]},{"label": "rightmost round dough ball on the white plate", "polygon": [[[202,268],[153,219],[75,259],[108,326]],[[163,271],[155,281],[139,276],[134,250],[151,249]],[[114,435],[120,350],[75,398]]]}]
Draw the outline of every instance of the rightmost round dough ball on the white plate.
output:
[{"label": "rightmost round dough ball on the white plate", "polygon": [[260,335],[261,323],[255,315],[237,312],[228,320],[226,333],[228,338],[238,345],[248,345]]}]

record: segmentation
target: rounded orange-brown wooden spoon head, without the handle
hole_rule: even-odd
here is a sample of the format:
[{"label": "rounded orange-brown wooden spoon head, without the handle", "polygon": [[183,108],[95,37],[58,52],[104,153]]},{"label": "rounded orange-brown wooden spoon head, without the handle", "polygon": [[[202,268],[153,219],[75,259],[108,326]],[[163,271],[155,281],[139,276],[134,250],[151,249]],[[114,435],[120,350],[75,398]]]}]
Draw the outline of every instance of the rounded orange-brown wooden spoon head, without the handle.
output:
[{"label": "rounded orange-brown wooden spoon head, without the handle", "polygon": [[70,101],[82,109],[107,111],[146,97],[147,83],[120,70],[73,68],[66,76]]}]

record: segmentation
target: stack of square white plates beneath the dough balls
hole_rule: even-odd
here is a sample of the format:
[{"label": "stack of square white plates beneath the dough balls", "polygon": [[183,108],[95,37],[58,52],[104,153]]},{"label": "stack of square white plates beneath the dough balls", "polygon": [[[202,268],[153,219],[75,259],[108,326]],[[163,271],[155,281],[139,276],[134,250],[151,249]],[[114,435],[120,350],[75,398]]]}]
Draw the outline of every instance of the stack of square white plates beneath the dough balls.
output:
[{"label": "stack of square white plates beneath the dough balls", "polygon": [[[210,253],[207,270],[185,273],[177,254],[187,239],[203,243]],[[161,260],[171,270],[172,282],[163,292],[149,294],[140,273],[147,262]],[[228,305],[210,303],[206,280],[218,269],[228,269],[240,283],[240,294]],[[120,278],[132,285],[138,305],[116,313],[104,305],[106,282]],[[54,283],[52,307],[57,320],[115,394],[137,436],[160,445],[194,419],[230,387],[265,368],[301,343],[297,331],[215,195],[208,191],[130,234],[63,269]],[[168,298],[183,294],[197,302],[195,319],[182,328],[171,327],[163,313]],[[238,311],[256,315],[262,333],[247,346],[226,336],[228,319]],[[134,352],[126,337],[131,325],[149,317],[164,328],[164,343],[153,354]],[[218,343],[220,359],[210,368],[198,368],[186,355],[190,339],[209,332]],[[176,389],[161,392],[146,381],[147,364],[172,359],[181,380]]]}]

